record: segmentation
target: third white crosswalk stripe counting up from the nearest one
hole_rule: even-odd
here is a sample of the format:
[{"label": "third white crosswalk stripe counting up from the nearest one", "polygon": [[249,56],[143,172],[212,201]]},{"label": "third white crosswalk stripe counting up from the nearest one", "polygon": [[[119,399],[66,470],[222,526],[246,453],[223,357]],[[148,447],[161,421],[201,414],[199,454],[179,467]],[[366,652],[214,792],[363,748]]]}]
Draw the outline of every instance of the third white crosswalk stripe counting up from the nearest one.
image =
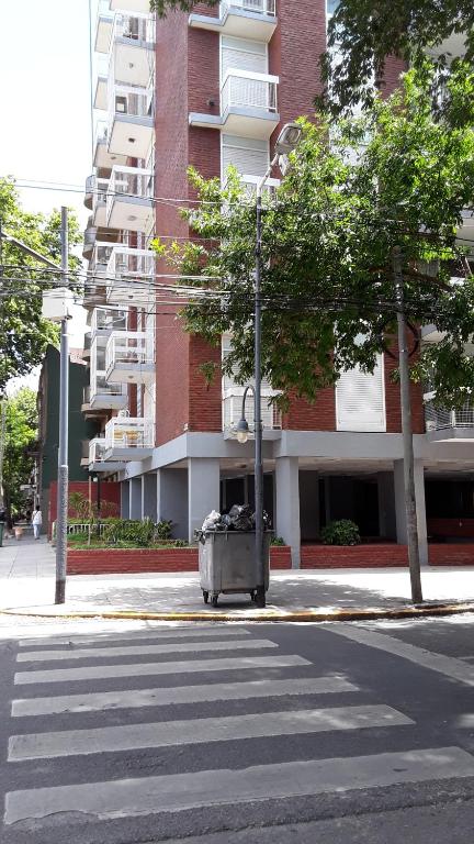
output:
[{"label": "third white crosswalk stripe counting up from the nearest one", "polygon": [[61,712],[103,712],[108,709],[166,707],[217,700],[246,700],[284,695],[330,695],[357,691],[343,677],[309,677],[291,680],[248,680],[206,686],[171,686],[165,689],[126,689],[124,691],[61,695],[50,698],[14,700],[12,717],[53,715]]}]

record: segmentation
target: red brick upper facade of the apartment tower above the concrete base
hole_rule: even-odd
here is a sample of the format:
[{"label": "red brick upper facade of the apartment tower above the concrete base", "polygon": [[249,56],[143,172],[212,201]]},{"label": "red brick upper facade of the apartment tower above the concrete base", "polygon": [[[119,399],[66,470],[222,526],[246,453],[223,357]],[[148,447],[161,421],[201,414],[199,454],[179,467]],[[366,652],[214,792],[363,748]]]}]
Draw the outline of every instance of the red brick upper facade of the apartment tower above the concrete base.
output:
[{"label": "red brick upper facade of the apartment tower above the concrete base", "polygon": [[[198,3],[195,13],[218,14],[217,7]],[[319,56],[326,46],[326,11],[320,0],[281,0],[278,26],[269,44],[269,71],[280,79],[278,108],[281,125],[301,114],[313,116],[314,98],[320,91]],[[391,91],[403,65],[390,59],[384,90]],[[190,27],[188,15],[170,13],[157,22],[156,44],[156,231],[158,236],[187,237],[189,229],[179,219],[177,203],[160,197],[194,199],[187,180],[192,165],[206,178],[221,174],[221,133],[214,129],[190,127],[190,112],[219,113],[219,36]],[[272,136],[274,141],[279,129]],[[179,204],[179,203],[178,203]],[[158,263],[158,273],[170,268]],[[159,282],[158,278],[158,282]],[[163,295],[169,299],[169,295]],[[157,444],[185,431],[222,430],[222,397],[218,375],[206,385],[200,365],[219,364],[221,351],[199,337],[183,333],[176,320],[176,306],[158,301],[156,319],[156,432]],[[400,431],[399,387],[393,381],[396,362],[385,358],[387,432]],[[414,431],[424,431],[421,390],[413,387]],[[292,431],[336,431],[336,400],[332,388],[319,392],[314,404],[294,399],[283,418]]]}]

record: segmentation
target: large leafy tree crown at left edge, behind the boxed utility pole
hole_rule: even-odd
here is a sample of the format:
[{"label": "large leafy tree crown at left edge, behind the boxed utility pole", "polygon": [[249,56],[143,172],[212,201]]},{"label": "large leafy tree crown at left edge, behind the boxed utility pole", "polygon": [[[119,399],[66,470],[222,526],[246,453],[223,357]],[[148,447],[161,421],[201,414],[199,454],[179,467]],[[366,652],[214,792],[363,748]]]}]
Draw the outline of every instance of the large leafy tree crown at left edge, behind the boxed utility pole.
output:
[{"label": "large leafy tree crown at left edge, behind the boxed utility pole", "polygon": [[[60,263],[60,213],[32,214],[21,208],[12,179],[0,178],[2,231],[54,263]],[[69,244],[80,242],[79,224],[69,215]],[[53,287],[58,275],[15,244],[1,241],[0,254],[0,393],[13,376],[25,375],[43,357],[48,343],[56,343],[56,326],[43,320],[42,290]],[[71,256],[70,267],[79,260]]]}]

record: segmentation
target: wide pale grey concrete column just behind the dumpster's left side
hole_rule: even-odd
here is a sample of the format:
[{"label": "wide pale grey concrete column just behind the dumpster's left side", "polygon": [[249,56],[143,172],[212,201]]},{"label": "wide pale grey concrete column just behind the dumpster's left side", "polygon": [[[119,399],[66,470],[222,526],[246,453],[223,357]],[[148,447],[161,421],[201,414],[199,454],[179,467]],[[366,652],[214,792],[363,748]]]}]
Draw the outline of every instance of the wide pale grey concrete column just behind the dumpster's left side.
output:
[{"label": "wide pale grey concrete column just behind the dumpster's left side", "polygon": [[221,501],[221,466],[215,457],[190,457],[188,460],[188,536],[201,528],[211,510]]}]

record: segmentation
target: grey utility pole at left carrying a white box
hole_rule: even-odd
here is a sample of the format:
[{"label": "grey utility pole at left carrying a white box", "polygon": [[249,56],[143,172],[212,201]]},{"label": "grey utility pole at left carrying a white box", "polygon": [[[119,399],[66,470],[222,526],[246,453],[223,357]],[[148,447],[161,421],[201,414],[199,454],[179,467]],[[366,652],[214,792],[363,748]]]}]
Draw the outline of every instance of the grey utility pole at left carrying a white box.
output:
[{"label": "grey utility pole at left carrying a white box", "polygon": [[[61,271],[64,287],[68,286],[68,210],[61,207]],[[67,517],[68,517],[68,422],[69,422],[69,338],[67,318],[60,322],[59,375],[59,448],[56,522],[56,597],[55,603],[66,600]]]}]

